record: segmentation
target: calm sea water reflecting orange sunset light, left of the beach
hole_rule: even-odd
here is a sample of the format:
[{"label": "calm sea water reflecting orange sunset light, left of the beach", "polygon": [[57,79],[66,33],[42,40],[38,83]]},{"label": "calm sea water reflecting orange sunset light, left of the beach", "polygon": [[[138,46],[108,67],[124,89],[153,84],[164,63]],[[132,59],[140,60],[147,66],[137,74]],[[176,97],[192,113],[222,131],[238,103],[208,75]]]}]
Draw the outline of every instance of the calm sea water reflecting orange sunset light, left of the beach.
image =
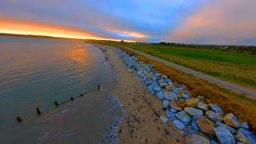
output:
[{"label": "calm sea water reflecting orange sunset light, left of the beach", "polygon": [[[0,37],[1,142],[113,140],[122,118],[122,106],[108,92],[115,82],[102,51],[85,42]],[[98,84],[102,90],[54,106],[54,101],[63,102]]]}]

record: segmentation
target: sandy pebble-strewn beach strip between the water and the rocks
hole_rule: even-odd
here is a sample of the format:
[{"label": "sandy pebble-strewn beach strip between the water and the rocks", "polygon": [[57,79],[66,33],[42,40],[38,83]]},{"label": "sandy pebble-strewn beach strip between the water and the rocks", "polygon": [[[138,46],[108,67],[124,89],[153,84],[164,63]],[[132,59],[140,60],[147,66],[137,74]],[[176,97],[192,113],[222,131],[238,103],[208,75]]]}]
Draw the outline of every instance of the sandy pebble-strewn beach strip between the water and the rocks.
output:
[{"label": "sandy pebble-strewn beach strip between the water and the rocks", "polygon": [[158,115],[166,115],[162,110],[162,102],[149,94],[139,78],[127,70],[113,48],[103,47],[111,66],[118,74],[118,84],[113,93],[125,110],[118,134],[120,143],[183,142],[181,133],[175,126],[158,118]]}]

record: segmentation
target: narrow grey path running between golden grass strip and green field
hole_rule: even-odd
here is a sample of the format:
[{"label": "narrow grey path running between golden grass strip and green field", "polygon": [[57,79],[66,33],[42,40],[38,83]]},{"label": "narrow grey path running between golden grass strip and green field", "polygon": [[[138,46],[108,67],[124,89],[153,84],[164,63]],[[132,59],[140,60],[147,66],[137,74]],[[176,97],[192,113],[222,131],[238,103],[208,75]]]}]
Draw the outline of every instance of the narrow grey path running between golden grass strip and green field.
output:
[{"label": "narrow grey path running between golden grass strip and green field", "polygon": [[234,91],[238,94],[244,94],[244,95],[248,96],[249,98],[256,99],[256,90],[253,89],[253,88],[246,87],[246,86],[241,86],[241,85],[238,85],[238,84],[232,83],[232,82],[226,82],[226,81],[223,81],[221,79],[214,78],[214,77],[211,77],[211,76],[206,75],[206,74],[202,74],[198,71],[191,70],[191,69],[189,69],[185,66],[180,66],[180,65],[175,64],[173,62],[168,62],[166,60],[163,60],[162,58],[156,58],[156,57],[154,57],[150,54],[145,54],[145,53],[142,53],[141,51],[134,50],[134,49],[131,49],[131,48],[126,47],[126,46],[122,46],[122,47],[124,47],[128,50],[133,50],[134,52],[136,52],[138,54],[142,54],[143,56],[146,56],[147,58],[151,58],[156,62],[162,62],[162,63],[166,64],[167,66],[174,67],[177,70],[182,70],[183,72],[185,72],[187,74],[192,74],[192,75],[194,75],[198,78],[202,78],[202,79],[204,79],[208,82],[215,83],[218,86],[222,86],[222,87],[224,87],[226,89],[229,89],[229,90],[232,90],[232,91]]}]

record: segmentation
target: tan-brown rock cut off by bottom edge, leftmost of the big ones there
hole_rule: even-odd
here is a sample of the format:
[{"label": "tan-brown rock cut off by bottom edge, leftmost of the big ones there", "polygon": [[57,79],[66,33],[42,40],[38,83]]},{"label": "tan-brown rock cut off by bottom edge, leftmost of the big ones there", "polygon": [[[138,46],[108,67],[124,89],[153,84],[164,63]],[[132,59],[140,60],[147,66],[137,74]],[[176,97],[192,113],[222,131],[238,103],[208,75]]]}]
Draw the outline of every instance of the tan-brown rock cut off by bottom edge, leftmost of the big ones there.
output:
[{"label": "tan-brown rock cut off by bottom edge, leftmost of the big ones there", "polygon": [[204,138],[198,134],[192,134],[185,137],[186,144],[210,144],[207,138]]}]

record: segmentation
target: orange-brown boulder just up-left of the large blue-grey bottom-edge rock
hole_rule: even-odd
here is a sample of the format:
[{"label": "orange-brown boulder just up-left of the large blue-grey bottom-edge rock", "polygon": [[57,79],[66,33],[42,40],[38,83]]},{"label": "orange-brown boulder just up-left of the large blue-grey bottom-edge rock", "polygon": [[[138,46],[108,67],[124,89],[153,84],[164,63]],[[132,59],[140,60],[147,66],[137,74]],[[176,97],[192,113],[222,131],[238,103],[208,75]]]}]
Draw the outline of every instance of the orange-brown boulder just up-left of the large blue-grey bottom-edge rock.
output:
[{"label": "orange-brown boulder just up-left of the large blue-grey bottom-edge rock", "polygon": [[214,122],[211,122],[207,118],[199,118],[197,120],[198,127],[205,134],[214,135]]}]

